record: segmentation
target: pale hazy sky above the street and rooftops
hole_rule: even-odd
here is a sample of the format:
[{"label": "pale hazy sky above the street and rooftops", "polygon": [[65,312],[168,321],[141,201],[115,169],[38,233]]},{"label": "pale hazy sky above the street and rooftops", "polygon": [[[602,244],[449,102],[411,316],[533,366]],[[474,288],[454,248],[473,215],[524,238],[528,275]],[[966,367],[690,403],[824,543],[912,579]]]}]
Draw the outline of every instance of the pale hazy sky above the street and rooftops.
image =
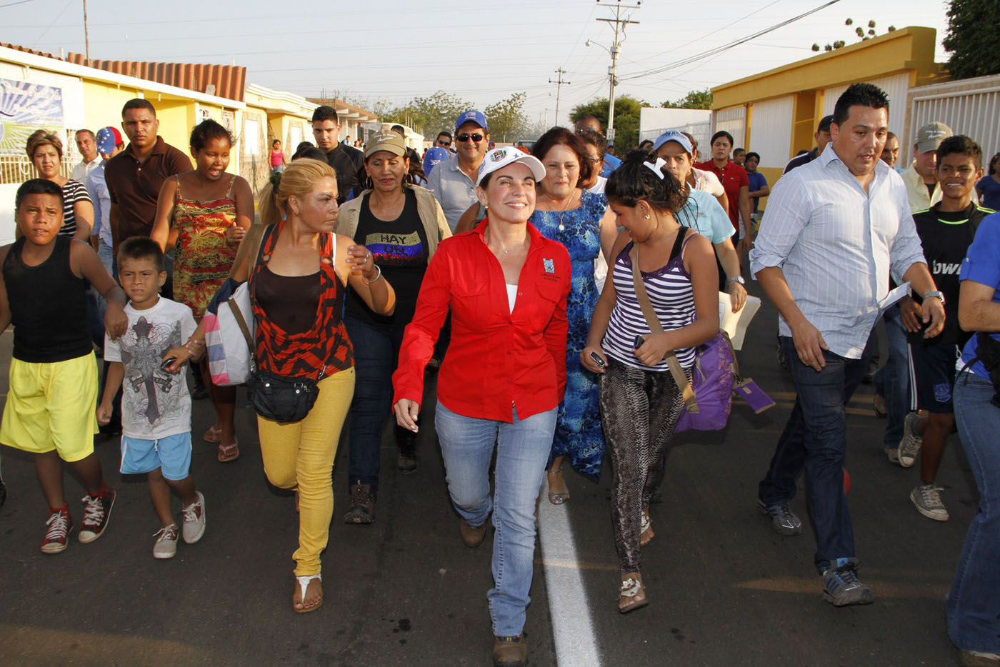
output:
[{"label": "pale hazy sky above the street and rooftops", "polygon": [[[721,53],[684,66],[681,59],[745,38],[829,0],[624,0],[638,24],[620,44],[616,95],[654,106],[813,55],[853,27],[947,26],[943,0],[839,0],[831,6]],[[405,104],[445,90],[485,108],[527,93],[525,112],[546,125],[568,123],[575,104],[608,96],[614,0],[501,0],[456,3],[382,0],[90,0],[90,57],[244,65],[247,81],[306,97],[336,94],[365,108]],[[844,21],[854,19],[854,26]],[[587,40],[593,43],[585,46]],[[0,42],[58,55],[84,52],[83,0],[0,0]],[[569,85],[557,85],[562,69]]]}]

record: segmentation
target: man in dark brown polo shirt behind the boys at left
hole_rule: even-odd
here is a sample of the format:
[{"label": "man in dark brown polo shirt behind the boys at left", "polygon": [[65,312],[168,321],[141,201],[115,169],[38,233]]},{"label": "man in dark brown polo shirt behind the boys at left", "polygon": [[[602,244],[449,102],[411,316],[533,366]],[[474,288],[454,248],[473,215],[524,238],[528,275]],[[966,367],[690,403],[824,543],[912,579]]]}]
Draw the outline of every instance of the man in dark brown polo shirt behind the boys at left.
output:
[{"label": "man in dark brown polo shirt behind the boys at left", "polygon": [[163,182],[193,168],[187,155],[157,136],[159,128],[156,109],[148,100],[135,98],[122,107],[122,129],[129,144],[104,167],[115,254],[125,239],[149,236]]}]

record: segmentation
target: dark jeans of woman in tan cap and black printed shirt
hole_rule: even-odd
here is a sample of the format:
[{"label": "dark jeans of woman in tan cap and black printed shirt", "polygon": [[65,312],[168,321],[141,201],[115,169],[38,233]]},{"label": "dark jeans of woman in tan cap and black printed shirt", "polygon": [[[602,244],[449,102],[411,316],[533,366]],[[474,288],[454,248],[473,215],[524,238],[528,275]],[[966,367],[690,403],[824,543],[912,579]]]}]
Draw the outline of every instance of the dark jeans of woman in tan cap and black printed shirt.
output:
[{"label": "dark jeans of woman in tan cap and black printed shirt", "polygon": [[[354,398],[351,401],[351,430],[348,449],[348,484],[371,485],[378,491],[382,426],[392,412],[392,372],[396,370],[403,327],[388,329],[344,316],[347,335],[354,346]],[[414,434],[395,426],[401,448],[415,444]]]}]

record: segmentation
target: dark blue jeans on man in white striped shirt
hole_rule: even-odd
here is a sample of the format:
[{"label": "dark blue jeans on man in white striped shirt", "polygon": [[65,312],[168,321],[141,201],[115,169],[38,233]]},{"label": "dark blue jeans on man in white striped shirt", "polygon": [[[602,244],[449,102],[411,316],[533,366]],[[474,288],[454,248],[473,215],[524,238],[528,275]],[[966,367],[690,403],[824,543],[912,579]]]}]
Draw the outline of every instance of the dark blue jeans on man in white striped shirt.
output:
[{"label": "dark blue jeans on man in white striped shirt", "polygon": [[844,493],[844,406],[868,369],[870,350],[866,348],[861,359],[825,352],[826,366],[817,373],[799,361],[791,337],[780,340],[798,397],[760,483],[758,498],[767,505],[791,500],[795,479],[805,470],[816,569],[822,574],[830,561],[854,558],[854,529]]}]

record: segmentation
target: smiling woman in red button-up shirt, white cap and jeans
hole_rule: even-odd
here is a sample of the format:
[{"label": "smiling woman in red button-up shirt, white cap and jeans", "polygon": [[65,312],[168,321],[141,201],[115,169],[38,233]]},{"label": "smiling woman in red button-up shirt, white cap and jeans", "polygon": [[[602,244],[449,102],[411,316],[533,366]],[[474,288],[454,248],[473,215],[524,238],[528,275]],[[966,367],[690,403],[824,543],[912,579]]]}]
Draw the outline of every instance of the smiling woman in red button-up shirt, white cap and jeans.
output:
[{"label": "smiling woman in red button-up shirt, white cap and jeans", "polygon": [[528,223],[544,176],[541,162],[516,148],[486,154],[476,196],[489,213],[476,229],[438,246],[393,375],[396,420],[416,432],[424,367],[450,309],[452,339],[438,374],[434,426],[466,546],[483,541],[493,511],[494,587],[487,597],[497,663],[527,654],[522,631],[535,499],[566,385],[569,253]]}]

